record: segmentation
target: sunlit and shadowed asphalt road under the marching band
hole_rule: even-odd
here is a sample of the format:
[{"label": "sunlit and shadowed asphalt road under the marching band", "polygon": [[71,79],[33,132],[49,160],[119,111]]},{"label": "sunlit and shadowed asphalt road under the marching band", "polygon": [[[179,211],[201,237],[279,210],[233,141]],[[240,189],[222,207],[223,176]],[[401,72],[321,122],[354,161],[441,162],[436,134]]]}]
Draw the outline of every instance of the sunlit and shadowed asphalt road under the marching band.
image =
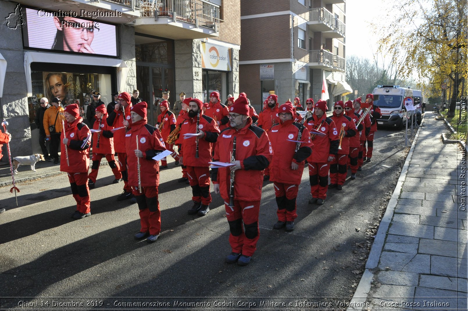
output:
[{"label": "sunlit and shadowed asphalt road under the marching band", "polygon": [[[138,207],[116,200],[122,184],[111,184],[109,166],[100,168],[91,191],[92,215],[83,220],[70,218],[75,204],[66,175],[18,185],[20,207],[9,186],[0,188],[7,208],[0,215],[0,296],[44,297],[3,298],[0,307],[346,309],[342,303],[364,271],[379,210],[387,206],[409,150],[403,134],[379,130],[372,162],[342,191],[329,190],[321,207],[307,204],[304,170],[293,232],[272,229],[275,195],[273,184],[264,183],[260,239],[247,267],[224,263],[231,251],[229,227],[218,195],[212,192],[208,215],[187,215],[191,189],[177,183],[181,172],[173,162],[161,171],[162,230],[154,244],[133,239],[139,231]],[[153,305],[142,304],[149,302]]]}]

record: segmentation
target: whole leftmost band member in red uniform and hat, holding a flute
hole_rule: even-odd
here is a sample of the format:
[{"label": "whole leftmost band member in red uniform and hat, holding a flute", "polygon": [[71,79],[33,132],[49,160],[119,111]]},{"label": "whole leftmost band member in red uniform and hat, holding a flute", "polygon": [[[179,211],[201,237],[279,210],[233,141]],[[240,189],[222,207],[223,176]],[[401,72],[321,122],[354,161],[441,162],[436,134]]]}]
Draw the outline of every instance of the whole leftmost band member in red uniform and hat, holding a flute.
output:
[{"label": "whole leftmost band member in red uniform and hat, holding a flute", "polygon": [[76,201],[76,211],[72,214],[72,218],[83,219],[91,215],[88,188],[91,132],[83,123],[77,104],[66,106],[64,115],[67,123],[61,134],[60,151],[62,155],[66,155],[67,161],[60,161],[60,170],[67,172],[73,198]]}]

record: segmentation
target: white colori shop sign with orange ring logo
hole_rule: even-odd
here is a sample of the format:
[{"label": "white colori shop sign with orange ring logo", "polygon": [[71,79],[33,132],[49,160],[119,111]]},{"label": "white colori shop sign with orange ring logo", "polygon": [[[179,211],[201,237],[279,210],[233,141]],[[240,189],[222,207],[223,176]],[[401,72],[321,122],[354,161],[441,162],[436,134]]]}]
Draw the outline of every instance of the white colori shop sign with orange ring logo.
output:
[{"label": "white colori shop sign with orange ring logo", "polygon": [[202,68],[231,71],[232,70],[232,49],[202,42],[201,44],[202,54]]}]

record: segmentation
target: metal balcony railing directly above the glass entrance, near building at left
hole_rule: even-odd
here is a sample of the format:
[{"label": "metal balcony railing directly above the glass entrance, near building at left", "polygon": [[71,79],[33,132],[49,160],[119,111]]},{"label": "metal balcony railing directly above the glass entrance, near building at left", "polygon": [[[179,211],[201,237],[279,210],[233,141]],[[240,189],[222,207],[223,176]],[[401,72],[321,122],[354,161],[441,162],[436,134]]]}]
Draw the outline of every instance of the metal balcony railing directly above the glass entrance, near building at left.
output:
[{"label": "metal balcony railing directly above the glass entrance, near building at left", "polygon": [[214,30],[219,28],[219,6],[205,0],[140,0],[139,7],[141,17],[170,17]]}]

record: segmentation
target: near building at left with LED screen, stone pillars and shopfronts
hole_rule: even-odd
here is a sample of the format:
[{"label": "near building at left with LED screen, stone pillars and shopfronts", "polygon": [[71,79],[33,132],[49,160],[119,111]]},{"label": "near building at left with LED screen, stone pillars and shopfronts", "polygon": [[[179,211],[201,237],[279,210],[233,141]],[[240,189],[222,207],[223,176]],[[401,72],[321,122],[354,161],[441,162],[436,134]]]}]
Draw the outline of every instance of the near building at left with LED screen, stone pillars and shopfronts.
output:
[{"label": "near building at left with LED screen, stone pillars and shopfronts", "polygon": [[86,116],[92,91],[107,104],[139,89],[154,125],[163,91],[171,105],[180,92],[239,93],[240,0],[0,0],[0,12],[0,118],[14,155],[40,153],[41,97]]}]

